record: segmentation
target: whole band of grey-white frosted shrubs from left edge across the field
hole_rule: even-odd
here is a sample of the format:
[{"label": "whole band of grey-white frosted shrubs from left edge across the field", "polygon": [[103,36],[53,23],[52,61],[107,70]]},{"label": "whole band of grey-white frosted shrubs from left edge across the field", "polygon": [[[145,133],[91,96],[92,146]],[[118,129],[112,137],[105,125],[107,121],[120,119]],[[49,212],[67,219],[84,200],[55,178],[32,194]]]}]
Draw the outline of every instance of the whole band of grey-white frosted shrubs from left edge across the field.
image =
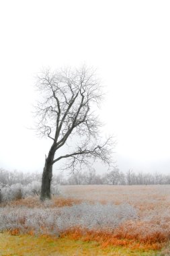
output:
[{"label": "whole band of grey-white frosted shrubs from left edge across the field", "polygon": [[0,209],[0,230],[19,228],[35,232],[62,232],[69,228],[114,230],[126,220],[137,218],[136,210],[126,205],[81,203],[71,207],[34,208],[4,207]]}]

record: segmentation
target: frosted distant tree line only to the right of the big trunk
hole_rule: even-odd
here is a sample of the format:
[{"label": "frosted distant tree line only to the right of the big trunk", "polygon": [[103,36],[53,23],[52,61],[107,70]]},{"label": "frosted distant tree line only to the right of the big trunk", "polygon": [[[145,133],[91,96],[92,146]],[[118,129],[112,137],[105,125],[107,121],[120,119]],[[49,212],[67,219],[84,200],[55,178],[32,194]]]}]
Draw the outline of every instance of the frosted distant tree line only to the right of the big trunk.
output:
[{"label": "frosted distant tree line only to the right of the big trunk", "polygon": [[128,170],[122,172],[118,168],[97,174],[95,169],[85,172],[74,172],[69,177],[63,174],[57,176],[60,185],[168,185],[170,175],[155,173],[134,172]]}]

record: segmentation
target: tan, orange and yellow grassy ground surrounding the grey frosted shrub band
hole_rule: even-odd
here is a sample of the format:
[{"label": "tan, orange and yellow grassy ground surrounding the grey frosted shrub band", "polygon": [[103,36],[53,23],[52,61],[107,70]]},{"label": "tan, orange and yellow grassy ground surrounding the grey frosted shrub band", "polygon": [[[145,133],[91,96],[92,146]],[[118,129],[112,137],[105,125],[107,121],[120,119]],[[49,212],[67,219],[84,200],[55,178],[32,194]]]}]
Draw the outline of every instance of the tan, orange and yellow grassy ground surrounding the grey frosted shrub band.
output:
[{"label": "tan, orange and yellow grassy ground surrounding the grey frosted shrub band", "polygon": [[[21,234],[9,229],[0,234],[0,255],[170,255],[170,186],[60,186],[61,196],[42,205],[38,197],[29,197],[1,205],[15,209],[58,209],[65,205],[100,202],[121,205],[128,203],[138,212],[138,220],[124,222],[118,234],[106,231],[67,230],[60,236]],[[25,209],[25,208],[24,208]]]}]

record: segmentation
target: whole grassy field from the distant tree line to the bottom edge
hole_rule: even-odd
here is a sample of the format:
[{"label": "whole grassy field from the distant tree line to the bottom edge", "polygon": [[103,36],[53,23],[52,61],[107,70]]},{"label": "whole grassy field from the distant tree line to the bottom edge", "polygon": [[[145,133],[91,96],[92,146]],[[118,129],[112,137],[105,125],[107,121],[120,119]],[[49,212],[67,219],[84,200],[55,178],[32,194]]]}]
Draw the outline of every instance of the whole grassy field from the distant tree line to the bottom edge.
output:
[{"label": "whole grassy field from the distant tree line to the bottom edge", "polygon": [[60,191],[1,203],[0,255],[170,255],[169,185]]}]

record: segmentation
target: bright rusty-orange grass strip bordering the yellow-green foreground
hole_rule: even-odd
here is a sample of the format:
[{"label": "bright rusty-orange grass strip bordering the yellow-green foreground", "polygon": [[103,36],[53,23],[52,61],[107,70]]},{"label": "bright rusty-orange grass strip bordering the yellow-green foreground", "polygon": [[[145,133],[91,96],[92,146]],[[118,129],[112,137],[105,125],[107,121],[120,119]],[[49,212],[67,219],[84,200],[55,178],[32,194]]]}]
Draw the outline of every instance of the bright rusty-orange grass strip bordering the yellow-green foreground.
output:
[{"label": "bright rusty-orange grass strip bordering the yellow-green foreground", "polygon": [[[73,240],[82,241],[95,241],[101,247],[108,246],[123,246],[131,249],[144,249],[144,250],[159,250],[165,246],[168,241],[168,236],[163,232],[140,232],[140,227],[143,228],[142,222],[126,222],[111,232],[110,230],[88,230],[85,228],[71,228],[65,230],[59,237],[69,237]],[[8,230],[9,234],[15,236],[22,234],[23,230],[19,228]],[[53,230],[54,231],[54,230]],[[42,227],[44,236],[49,236],[46,232],[46,227]],[[34,235],[34,230],[25,230],[25,234]],[[54,232],[57,234],[57,232]]]}]

